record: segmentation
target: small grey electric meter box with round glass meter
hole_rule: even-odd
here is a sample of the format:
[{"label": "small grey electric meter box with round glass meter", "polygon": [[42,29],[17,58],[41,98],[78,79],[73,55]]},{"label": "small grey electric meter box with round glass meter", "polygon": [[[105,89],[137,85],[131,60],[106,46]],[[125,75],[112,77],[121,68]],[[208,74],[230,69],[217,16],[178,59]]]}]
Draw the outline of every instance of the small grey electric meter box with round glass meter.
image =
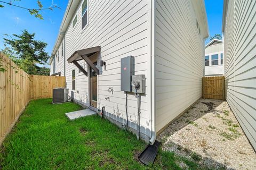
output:
[{"label": "small grey electric meter box with round glass meter", "polygon": [[132,75],[132,92],[143,94],[146,92],[145,74]]}]

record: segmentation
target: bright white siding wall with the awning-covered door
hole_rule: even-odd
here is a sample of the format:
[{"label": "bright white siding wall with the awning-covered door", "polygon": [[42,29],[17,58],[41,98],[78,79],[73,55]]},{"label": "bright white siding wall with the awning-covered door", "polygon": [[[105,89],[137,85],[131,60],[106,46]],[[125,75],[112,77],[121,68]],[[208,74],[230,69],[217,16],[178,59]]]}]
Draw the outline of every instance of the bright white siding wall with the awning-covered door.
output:
[{"label": "bright white siding wall with the awning-covered door", "polygon": [[[82,2],[81,2],[82,3]],[[106,62],[106,69],[99,67],[98,76],[98,108],[106,107],[106,112],[119,122],[126,117],[125,94],[121,91],[121,58],[135,56],[135,74],[146,74],[146,95],[141,97],[141,131],[150,135],[150,1],[92,1],[89,0],[89,24],[82,30],[81,3],[77,8],[78,21],[76,26],[66,32],[66,59],[75,50],[101,46],[101,58]],[[75,13],[76,14],[76,13]],[[74,16],[75,16],[74,14]],[[79,63],[83,63],[80,61]],[[87,69],[87,64],[85,70]],[[57,68],[60,65],[56,66]],[[76,69],[75,99],[89,106],[89,78],[83,73],[78,75],[74,64],[66,61],[67,88],[71,91],[71,71]],[[58,69],[57,69],[58,71]],[[57,72],[56,71],[56,72]],[[113,87],[113,94],[108,88]],[[105,97],[109,97],[110,101]],[[129,121],[136,129],[137,98],[128,95]],[[126,118],[125,118],[126,119]]]}]

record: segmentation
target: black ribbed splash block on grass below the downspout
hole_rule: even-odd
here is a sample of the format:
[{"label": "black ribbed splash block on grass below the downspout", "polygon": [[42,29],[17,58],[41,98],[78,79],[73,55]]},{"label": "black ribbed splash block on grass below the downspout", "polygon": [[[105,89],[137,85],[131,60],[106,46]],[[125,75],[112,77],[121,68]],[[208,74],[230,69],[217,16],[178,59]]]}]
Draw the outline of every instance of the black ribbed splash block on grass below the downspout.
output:
[{"label": "black ribbed splash block on grass below the downspout", "polygon": [[153,145],[148,145],[147,148],[141,152],[139,160],[145,165],[153,164],[160,144],[160,142],[155,141]]}]

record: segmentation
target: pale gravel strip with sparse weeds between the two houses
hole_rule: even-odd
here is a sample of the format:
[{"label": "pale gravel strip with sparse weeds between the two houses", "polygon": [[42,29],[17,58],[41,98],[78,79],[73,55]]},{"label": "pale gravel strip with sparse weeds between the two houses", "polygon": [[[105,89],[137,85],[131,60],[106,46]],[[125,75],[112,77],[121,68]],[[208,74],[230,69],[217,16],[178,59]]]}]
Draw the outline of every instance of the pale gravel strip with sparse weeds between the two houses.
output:
[{"label": "pale gravel strip with sparse weeds between the two houses", "polygon": [[256,169],[256,154],[226,101],[200,99],[157,137],[162,149],[214,169]]}]

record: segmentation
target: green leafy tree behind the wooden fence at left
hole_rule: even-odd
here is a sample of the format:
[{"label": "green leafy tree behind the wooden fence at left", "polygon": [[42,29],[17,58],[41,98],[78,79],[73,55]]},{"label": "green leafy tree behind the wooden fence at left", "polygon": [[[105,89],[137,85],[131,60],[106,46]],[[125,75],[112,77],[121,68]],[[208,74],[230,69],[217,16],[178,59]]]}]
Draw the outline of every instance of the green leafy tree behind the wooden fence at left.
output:
[{"label": "green leafy tree behind the wooden fence at left", "polygon": [[[28,74],[49,75],[47,70],[36,64],[46,64],[50,56],[45,52],[47,43],[35,40],[35,33],[23,30],[21,35],[13,35],[15,39],[4,38],[3,53],[13,60]],[[44,74],[45,73],[45,74]]]}]

